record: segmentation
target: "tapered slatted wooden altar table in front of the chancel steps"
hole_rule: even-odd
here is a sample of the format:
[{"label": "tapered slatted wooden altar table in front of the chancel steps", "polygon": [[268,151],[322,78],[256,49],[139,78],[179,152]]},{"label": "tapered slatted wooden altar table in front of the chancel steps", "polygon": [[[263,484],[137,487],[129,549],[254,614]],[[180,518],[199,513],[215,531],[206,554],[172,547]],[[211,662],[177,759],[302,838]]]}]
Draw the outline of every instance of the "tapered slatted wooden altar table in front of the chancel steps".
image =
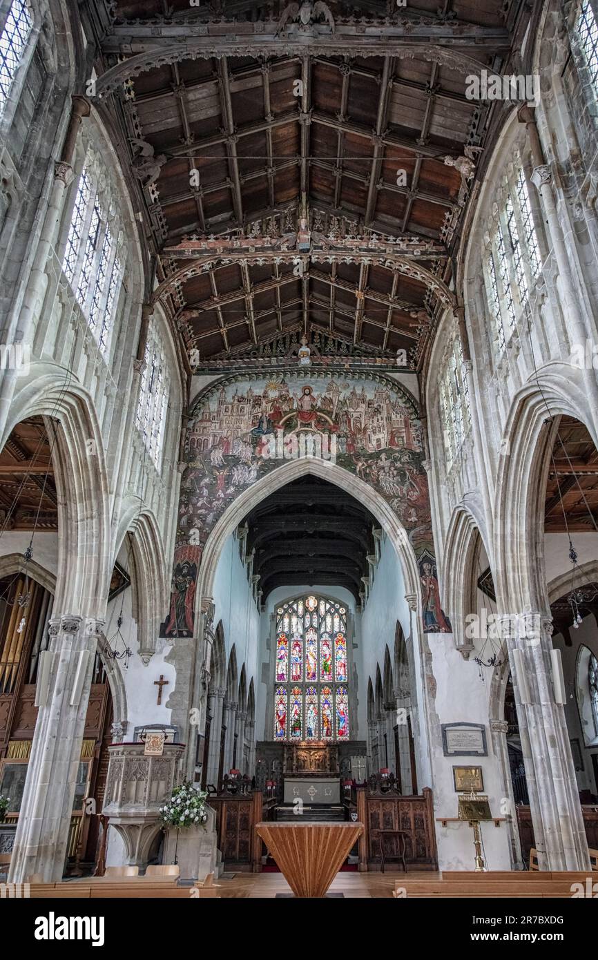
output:
[{"label": "tapered slatted wooden altar table in front of the chancel steps", "polygon": [[363,829],[352,822],[255,826],[296,897],[325,897]]}]

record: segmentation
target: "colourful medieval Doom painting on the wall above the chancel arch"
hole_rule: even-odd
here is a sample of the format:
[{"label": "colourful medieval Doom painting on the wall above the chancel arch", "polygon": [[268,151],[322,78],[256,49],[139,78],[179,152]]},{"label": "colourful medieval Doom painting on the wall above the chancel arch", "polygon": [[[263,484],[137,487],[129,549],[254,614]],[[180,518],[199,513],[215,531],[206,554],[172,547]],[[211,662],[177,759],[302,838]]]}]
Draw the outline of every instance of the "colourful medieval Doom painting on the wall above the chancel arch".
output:
[{"label": "colourful medieval Doom painting on the wall above the chancel arch", "polygon": [[247,373],[210,386],[187,425],[170,610],[161,636],[192,636],[203,546],[241,492],[285,460],[333,460],[390,504],[414,548],[423,629],[448,632],[440,608],[417,405],[390,377]]}]

